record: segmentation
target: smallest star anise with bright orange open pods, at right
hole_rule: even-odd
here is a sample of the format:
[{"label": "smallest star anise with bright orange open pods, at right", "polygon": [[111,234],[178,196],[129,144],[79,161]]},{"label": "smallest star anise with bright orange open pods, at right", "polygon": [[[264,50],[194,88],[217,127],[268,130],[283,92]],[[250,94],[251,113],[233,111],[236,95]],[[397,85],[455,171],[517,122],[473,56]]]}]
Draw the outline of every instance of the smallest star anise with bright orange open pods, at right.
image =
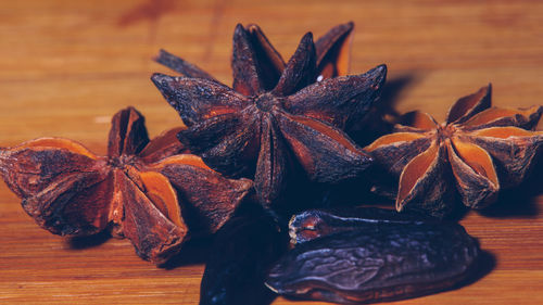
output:
[{"label": "smallest star anise with bright orange open pods, at right", "polygon": [[501,188],[519,185],[543,147],[543,132],[530,131],[542,106],[491,106],[491,86],[459,99],[445,123],[412,112],[395,132],[366,147],[376,164],[399,177],[396,209],[444,216],[454,200],[472,208],[495,201]]}]

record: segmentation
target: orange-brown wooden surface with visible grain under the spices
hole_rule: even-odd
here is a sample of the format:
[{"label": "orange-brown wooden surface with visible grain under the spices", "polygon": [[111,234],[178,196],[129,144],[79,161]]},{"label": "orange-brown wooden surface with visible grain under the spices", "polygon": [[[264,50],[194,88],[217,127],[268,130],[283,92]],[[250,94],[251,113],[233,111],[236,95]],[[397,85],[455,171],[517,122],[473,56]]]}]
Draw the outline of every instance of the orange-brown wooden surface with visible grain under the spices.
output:
[{"label": "orange-brown wooden surface with visible grain under the spices", "polygon": [[[488,82],[496,105],[541,104],[543,1],[3,0],[0,145],[61,136],[103,153],[111,115],[126,105],[156,135],[179,124],[149,80],[168,72],[150,60],[160,48],[230,82],[236,23],[260,24],[288,59],[305,31],[346,21],[356,24],[352,73],[387,63],[386,98],[397,112],[442,119]],[[541,177],[462,220],[488,252],[479,280],[394,304],[543,304]],[[126,240],[52,236],[0,182],[1,304],[197,304],[198,256],[161,269]]]}]

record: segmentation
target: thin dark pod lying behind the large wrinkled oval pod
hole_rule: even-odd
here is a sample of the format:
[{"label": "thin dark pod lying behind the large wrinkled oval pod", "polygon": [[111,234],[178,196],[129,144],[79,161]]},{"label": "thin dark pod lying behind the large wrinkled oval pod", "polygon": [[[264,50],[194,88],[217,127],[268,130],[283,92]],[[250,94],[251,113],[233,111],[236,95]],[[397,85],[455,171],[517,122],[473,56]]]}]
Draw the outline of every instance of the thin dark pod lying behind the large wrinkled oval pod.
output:
[{"label": "thin dark pod lying behind the large wrinkled oval pod", "polygon": [[300,244],[342,231],[370,232],[387,224],[425,225],[439,221],[437,218],[378,207],[307,209],[292,216],[289,236],[292,244]]}]

